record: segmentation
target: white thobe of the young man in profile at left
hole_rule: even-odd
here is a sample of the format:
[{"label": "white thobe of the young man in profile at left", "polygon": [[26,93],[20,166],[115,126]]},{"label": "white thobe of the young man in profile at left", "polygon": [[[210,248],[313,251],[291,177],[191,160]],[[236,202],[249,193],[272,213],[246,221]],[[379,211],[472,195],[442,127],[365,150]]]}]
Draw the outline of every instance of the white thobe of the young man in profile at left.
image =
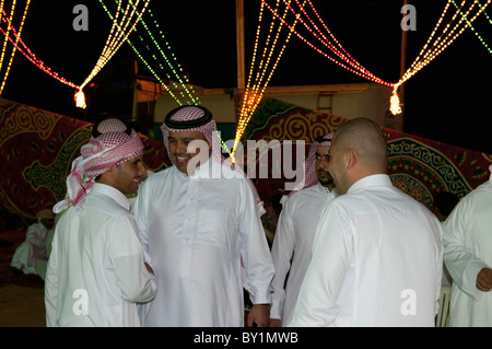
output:
[{"label": "white thobe of the young man in profile at left", "polygon": [[81,216],[56,225],[45,277],[47,326],[140,326],[136,303],[156,292],[137,222],[119,190],[94,184]]}]

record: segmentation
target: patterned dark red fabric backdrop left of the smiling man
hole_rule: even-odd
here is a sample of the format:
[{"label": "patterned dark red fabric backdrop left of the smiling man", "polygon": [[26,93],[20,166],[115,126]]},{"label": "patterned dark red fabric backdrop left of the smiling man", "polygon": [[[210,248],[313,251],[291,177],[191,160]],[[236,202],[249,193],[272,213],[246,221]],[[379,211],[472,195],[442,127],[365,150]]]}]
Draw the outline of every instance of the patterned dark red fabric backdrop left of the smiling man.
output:
[{"label": "patterned dark red fabric backdrop left of the smiling man", "polygon": [[[34,220],[65,198],[66,179],[92,124],[0,98],[0,206]],[[144,163],[152,171],[168,165],[162,143],[142,137]]]}]

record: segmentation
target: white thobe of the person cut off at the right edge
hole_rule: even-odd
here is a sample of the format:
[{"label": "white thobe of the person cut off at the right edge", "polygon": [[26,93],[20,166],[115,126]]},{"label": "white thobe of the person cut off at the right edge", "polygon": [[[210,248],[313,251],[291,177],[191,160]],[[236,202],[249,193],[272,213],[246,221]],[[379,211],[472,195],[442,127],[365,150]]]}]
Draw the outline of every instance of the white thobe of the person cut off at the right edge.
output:
[{"label": "white thobe of the person cut off at the right edge", "polygon": [[444,222],[444,261],[453,277],[449,326],[492,326],[492,292],[476,286],[479,271],[492,268],[491,226],[488,181],[464,197]]}]

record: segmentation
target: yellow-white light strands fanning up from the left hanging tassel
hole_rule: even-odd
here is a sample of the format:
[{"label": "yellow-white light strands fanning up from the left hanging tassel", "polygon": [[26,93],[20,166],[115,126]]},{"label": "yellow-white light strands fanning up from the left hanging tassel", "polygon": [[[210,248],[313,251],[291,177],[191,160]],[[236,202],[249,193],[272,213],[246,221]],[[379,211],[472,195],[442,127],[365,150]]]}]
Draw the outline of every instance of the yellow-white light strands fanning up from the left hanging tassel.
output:
[{"label": "yellow-white light strands fanning up from the left hanging tassel", "polygon": [[[140,13],[137,13],[136,19],[133,20],[133,15],[136,14],[136,10],[133,9],[128,15],[130,3],[127,4],[127,8],[125,9],[125,12],[122,13],[121,21],[118,23],[118,16],[121,8],[121,1],[118,2],[118,9],[117,13],[115,15],[115,19],[113,21],[113,25],[109,32],[109,36],[106,40],[106,44],[104,46],[103,53],[101,54],[99,59],[97,60],[95,67],[89,74],[89,77],[85,79],[85,81],[80,85],[79,92],[75,93],[75,102],[77,106],[81,108],[85,108],[85,97],[82,92],[83,88],[103,69],[103,67],[109,61],[109,59],[113,58],[113,56],[116,54],[116,51],[119,49],[119,47],[127,40],[130,33],[133,31],[137,23],[140,21],[142,14],[145,12],[147,7],[149,5],[150,0],[145,0],[143,4],[143,9]],[[137,0],[136,7],[138,5],[139,0]],[[133,20],[133,23],[131,23]],[[130,25],[131,23],[131,25]],[[129,27],[129,30],[127,30]],[[115,28],[117,30],[117,33],[115,33]]]}]

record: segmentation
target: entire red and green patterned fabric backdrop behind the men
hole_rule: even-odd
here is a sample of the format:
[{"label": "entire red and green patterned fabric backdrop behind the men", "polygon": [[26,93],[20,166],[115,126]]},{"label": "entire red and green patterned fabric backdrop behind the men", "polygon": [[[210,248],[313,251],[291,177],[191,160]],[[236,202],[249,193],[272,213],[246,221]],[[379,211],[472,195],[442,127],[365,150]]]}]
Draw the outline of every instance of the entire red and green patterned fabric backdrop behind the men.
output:
[{"label": "entire red and green patterned fabric backdrop behind the men", "polygon": [[[245,139],[304,140],[307,151],[316,137],[336,131],[345,120],[265,98],[249,123]],[[92,124],[1,98],[0,161],[4,170],[0,176],[0,206],[12,214],[33,220],[37,211],[61,200],[71,162],[89,140],[91,130]],[[429,207],[437,193],[450,191],[462,197],[490,176],[490,154],[390,129],[384,131],[389,147],[388,172],[395,186]],[[148,168],[157,172],[171,165],[162,142],[143,136],[142,141]],[[295,151],[293,155],[295,161]],[[272,176],[272,168],[280,167],[281,163],[257,158],[258,163],[269,167],[269,176],[257,176],[254,183],[268,210],[267,229],[274,232],[278,216],[274,209],[285,194],[285,182],[291,179]],[[261,168],[258,166],[257,171]]]}]

